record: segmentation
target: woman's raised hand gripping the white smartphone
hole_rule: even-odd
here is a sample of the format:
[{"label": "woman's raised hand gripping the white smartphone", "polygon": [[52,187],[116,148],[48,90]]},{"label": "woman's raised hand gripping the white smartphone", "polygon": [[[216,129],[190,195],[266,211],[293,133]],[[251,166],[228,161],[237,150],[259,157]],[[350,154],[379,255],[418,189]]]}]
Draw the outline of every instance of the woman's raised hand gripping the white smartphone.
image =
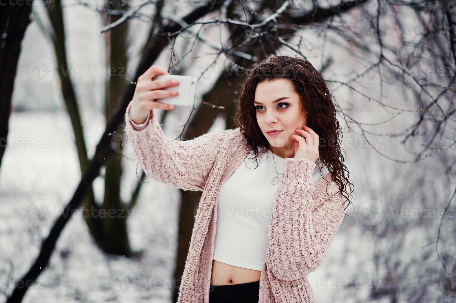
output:
[{"label": "woman's raised hand gripping the white smartphone", "polygon": [[[133,122],[141,124],[145,122],[151,109],[173,109],[174,105],[158,102],[157,98],[177,96],[177,91],[163,90],[160,88],[179,85],[175,80],[152,80],[158,75],[168,75],[169,72],[156,65],[149,67],[136,82],[135,94],[131,101],[130,118]],[[150,117],[151,118],[151,117]]]}]

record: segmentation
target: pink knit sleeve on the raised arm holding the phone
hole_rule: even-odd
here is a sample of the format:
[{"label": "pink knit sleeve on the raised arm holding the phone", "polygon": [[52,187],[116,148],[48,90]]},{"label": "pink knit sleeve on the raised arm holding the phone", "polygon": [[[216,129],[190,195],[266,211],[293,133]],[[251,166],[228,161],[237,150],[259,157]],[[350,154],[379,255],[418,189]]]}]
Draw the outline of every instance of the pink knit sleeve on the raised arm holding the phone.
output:
[{"label": "pink knit sleeve on the raised arm holding the phone", "polygon": [[131,101],[125,112],[125,131],[136,157],[150,178],[183,190],[203,190],[208,175],[230,130],[218,130],[192,140],[166,138],[152,110],[145,128],[130,122]]}]

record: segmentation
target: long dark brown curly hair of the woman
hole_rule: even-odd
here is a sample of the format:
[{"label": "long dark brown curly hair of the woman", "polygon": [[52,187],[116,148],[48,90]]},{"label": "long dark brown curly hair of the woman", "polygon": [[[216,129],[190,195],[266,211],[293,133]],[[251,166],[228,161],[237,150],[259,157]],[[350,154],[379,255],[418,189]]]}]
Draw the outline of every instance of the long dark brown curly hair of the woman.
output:
[{"label": "long dark brown curly hair of the woman", "polygon": [[[267,152],[269,148],[269,142],[261,132],[256,118],[255,89],[259,82],[277,78],[289,79],[300,95],[301,108],[307,113],[306,125],[320,137],[319,160],[326,165],[332,179],[339,186],[340,194],[348,200],[349,205],[349,195],[353,192],[354,185],[348,181],[349,172],[341,153],[342,130],[336,118],[336,105],[332,101],[325,80],[308,60],[285,55],[271,56],[257,62],[240,84],[242,88],[236,101],[234,124],[240,128],[247,140],[248,152],[255,154],[255,161],[258,163],[259,155]],[[347,177],[344,171],[347,172]],[[350,193],[346,190],[347,184],[351,189]]]}]

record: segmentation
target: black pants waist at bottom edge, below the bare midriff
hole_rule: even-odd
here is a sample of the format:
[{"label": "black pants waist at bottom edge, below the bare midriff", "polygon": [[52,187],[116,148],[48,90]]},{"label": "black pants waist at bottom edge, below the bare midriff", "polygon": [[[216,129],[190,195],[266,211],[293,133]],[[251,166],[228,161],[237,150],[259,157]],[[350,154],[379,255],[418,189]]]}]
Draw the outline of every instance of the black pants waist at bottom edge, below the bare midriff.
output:
[{"label": "black pants waist at bottom edge, below the bare midriff", "polygon": [[258,303],[259,281],[212,285],[209,288],[209,303]]}]

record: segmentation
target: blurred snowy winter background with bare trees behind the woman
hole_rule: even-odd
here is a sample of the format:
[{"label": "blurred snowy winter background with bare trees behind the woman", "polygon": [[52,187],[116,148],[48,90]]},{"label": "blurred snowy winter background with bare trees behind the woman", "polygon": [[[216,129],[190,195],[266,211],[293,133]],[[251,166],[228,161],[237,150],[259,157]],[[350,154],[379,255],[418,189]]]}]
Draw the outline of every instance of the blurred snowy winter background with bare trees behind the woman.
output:
[{"label": "blurred snowy winter background with bare trees behind the woman", "polygon": [[[3,7],[2,301],[175,302],[201,193],[145,176],[114,113],[156,64],[198,78],[194,108],[161,113],[169,138],[184,125],[187,139],[231,128],[238,84],[280,53],[305,56],[328,81],[355,185],[308,276],[316,302],[455,302],[455,1]],[[68,213],[112,119],[114,152]]]}]

